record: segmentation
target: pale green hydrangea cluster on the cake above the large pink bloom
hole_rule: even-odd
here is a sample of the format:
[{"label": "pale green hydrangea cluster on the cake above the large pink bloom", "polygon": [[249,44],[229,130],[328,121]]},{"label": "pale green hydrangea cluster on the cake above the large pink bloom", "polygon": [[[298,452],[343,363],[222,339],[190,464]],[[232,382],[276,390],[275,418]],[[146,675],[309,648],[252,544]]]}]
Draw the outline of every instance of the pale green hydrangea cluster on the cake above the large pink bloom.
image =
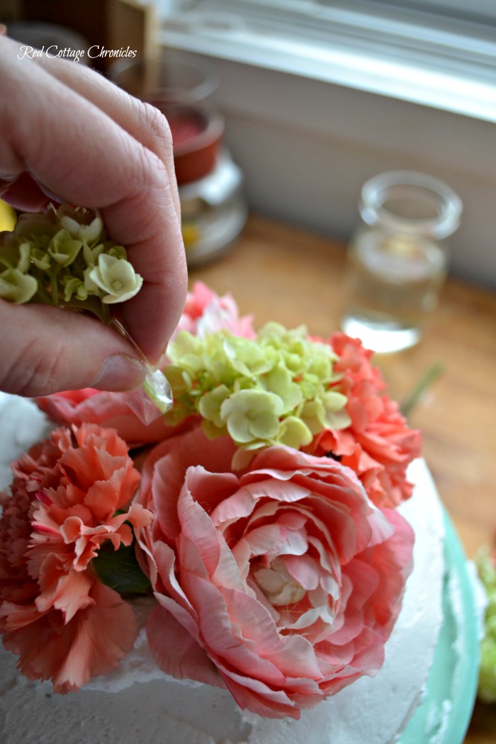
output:
[{"label": "pale green hydrangea cluster on the cake above the large pink bloom", "polygon": [[204,337],[181,331],[164,374],[175,405],[166,422],[200,414],[208,437],[229,434],[243,450],[277,443],[300,449],[323,429],[350,424],[347,397],[335,391],[337,356],[306,328],[266,324],[255,339],[222,329]]}]

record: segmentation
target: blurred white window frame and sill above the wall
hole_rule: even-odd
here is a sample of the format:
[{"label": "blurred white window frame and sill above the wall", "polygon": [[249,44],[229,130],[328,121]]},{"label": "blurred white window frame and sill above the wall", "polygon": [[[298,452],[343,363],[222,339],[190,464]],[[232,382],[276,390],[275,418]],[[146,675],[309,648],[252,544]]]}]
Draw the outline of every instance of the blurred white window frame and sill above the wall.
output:
[{"label": "blurred white window frame and sill above the wall", "polygon": [[496,121],[495,0],[155,0],[165,44]]}]

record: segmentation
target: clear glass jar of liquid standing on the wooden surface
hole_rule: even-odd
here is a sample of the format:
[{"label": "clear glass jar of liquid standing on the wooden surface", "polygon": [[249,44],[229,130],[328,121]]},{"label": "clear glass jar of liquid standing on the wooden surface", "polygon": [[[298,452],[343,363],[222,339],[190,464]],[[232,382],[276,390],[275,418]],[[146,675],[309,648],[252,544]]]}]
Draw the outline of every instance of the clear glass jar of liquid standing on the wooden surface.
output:
[{"label": "clear glass jar of liquid standing on the wooden surface", "polygon": [[437,306],[462,202],[432,176],[390,171],[364,184],[359,210],[341,326],[374,351],[399,351],[419,341]]}]

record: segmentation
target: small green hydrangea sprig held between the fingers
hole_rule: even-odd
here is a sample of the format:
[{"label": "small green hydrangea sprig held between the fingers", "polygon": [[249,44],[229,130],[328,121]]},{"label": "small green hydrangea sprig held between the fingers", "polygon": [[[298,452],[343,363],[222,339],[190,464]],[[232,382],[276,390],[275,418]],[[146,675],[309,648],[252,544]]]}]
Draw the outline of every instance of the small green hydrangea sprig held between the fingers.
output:
[{"label": "small green hydrangea sprig held between the fingers", "polygon": [[93,312],[109,321],[109,304],[125,302],[143,279],[126,249],[107,240],[97,211],[50,205],[43,214],[22,214],[11,232],[0,233],[0,298]]}]

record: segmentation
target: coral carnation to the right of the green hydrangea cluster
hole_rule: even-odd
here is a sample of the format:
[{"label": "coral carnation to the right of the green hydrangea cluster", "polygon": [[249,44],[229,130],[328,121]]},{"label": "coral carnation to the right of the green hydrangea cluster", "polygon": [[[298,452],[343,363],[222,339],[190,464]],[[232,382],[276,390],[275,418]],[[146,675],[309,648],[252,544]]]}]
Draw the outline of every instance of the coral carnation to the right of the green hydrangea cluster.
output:
[{"label": "coral carnation to the right of the green hydrangea cluster", "polygon": [[339,356],[335,371],[343,375],[335,389],[348,398],[351,424],[321,432],[306,451],[332,452],[357,473],[374,504],[396,507],[413,491],[406,471],[420,455],[420,432],[410,429],[397,403],[384,393],[384,379],[370,362],[373,353],[361,341],[336,333],[330,344]]}]

